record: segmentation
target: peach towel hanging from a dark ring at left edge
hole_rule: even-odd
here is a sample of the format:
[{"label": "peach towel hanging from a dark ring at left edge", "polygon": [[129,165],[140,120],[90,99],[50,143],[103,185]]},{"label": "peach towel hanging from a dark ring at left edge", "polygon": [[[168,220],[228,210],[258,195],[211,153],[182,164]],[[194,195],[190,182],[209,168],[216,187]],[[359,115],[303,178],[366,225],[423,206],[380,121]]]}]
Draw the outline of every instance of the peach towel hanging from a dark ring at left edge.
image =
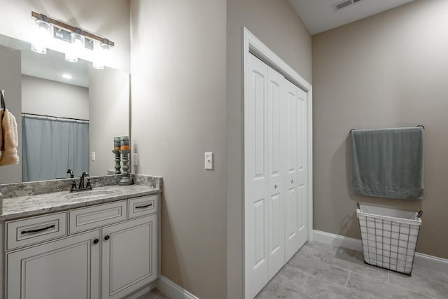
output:
[{"label": "peach towel hanging from a dark ring at left edge", "polygon": [[17,122],[13,113],[6,109],[4,91],[0,90],[1,97],[1,141],[0,141],[0,166],[18,164],[19,156],[17,153],[18,131]]}]

